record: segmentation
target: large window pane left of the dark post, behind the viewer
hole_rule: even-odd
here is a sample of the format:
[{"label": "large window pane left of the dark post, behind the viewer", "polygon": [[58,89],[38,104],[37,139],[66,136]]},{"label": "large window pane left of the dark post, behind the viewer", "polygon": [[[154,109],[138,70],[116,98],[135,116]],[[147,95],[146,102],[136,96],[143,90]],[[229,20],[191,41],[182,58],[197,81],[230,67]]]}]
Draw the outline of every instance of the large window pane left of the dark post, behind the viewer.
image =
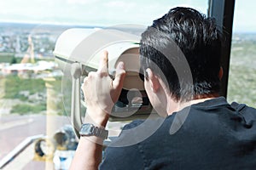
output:
[{"label": "large window pane left of the dark post, behind the viewer", "polygon": [[208,0],[1,1],[0,168],[65,169],[70,163],[77,144],[69,117],[72,81],[61,90],[63,73],[52,54],[63,31],[148,26],[177,6],[207,14]]}]

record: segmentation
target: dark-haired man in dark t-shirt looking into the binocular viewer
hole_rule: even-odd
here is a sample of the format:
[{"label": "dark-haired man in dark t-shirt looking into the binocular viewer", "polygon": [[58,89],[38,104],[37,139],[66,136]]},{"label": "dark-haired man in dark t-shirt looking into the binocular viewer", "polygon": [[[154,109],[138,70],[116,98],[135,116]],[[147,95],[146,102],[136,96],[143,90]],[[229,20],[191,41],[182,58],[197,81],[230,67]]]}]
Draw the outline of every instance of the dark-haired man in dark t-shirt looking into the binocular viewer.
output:
[{"label": "dark-haired man in dark t-shirt looking into the binocular viewer", "polygon": [[[140,57],[148,98],[164,118],[131,122],[114,143],[143,135],[137,131],[125,133],[127,129],[141,126],[144,133],[146,127],[157,129],[135,144],[110,145],[103,160],[102,138],[82,136],[71,169],[255,168],[256,110],[230,105],[219,97],[221,45],[215,20],[195,9],[172,8],[154,20],[143,32]],[[104,132],[124,78],[122,62],[115,79],[108,77],[108,53],[103,54],[98,71],[84,79],[84,122],[92,122]],[[101,90],[95,92],[96,87]]]}]

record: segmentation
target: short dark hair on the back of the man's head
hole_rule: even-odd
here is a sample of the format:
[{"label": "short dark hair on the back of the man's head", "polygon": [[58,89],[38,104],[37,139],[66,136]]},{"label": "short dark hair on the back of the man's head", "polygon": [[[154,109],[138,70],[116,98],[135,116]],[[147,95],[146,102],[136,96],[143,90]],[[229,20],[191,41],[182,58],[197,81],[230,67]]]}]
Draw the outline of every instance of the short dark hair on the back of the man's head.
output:
[{"label": "short dark hair on the back of the man's head", "polygon": [[[177,100],[188,101],[198,95],[216,94],[220,88],[221,45],[221,33],[213,18],[207,18],[193,8],[172,8],[154,20],[142,34],[142,69],[161,72]],[[181,50],[183,55],[178,55],[175,50]],[[183,64],[178,64],[182,56],[189,65],[189,71],[181,68]],[[189,75],[193,81],[187,80]]]}]

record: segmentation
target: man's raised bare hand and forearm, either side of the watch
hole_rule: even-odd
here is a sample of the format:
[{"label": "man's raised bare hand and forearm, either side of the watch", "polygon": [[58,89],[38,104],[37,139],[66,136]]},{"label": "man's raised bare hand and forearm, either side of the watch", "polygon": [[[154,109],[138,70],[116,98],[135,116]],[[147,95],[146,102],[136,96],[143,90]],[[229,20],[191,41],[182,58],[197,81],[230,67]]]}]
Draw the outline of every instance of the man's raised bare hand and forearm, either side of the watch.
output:
[{"label": "man's raised bare hand and forearm, either side of the watch", "polygon": [[[108,76],[108,52],[104,52],[98,71],[90,72],[84,78],[82,90],[87,105],[85,123],[106,127],[113,105],[119,99],[124,79],[123,62],[117,66],[114,80]],[[102,142],[96,136],[80,137],[70,169],[97,169],[102,161]]]}]

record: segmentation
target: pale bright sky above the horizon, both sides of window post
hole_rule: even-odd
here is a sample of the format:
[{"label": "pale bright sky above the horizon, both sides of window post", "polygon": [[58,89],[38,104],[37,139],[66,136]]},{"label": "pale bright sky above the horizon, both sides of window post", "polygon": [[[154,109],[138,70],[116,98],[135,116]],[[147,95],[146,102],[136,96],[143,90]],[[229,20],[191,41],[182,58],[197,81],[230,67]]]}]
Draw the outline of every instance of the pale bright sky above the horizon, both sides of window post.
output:
[{"label": "pale bright sky above the horizon, both sides of window post", "polygon": [[[114,26],[148,26],[173,7],[207,14],[208,0],[0,0],[0,22]],[[255,0],[236,0],[236,32],[256,32]]]}]

